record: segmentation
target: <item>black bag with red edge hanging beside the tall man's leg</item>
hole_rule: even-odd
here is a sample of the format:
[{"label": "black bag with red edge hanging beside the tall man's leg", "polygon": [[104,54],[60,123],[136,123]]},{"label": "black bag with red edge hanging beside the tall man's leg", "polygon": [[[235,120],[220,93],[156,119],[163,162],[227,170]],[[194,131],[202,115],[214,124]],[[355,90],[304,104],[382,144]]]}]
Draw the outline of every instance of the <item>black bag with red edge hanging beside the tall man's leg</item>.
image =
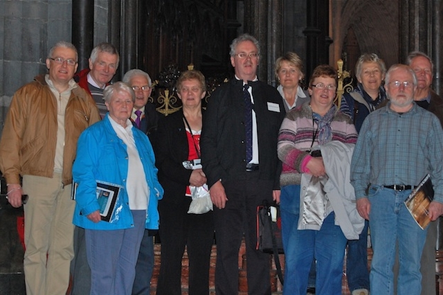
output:
[{"label": "black bag with red edge hanging beside the tall man's leg", "polygon": [[273,253],[278,279],[283,285],[282,267],[278,257],[279,253],[284,253],[280,206],[271,205],[267,201],[263,201],[262,205],[257,206],[257,244],[255,249],[263,253]]}]

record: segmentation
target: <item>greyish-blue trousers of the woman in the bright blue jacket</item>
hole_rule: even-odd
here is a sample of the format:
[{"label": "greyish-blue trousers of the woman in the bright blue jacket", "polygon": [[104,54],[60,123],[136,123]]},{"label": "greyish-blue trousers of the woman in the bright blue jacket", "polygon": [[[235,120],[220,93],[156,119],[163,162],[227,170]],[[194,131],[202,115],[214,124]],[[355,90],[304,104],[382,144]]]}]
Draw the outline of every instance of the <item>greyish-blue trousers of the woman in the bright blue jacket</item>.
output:
[{"label": "greyish-blue trousers of the woman in the bright blue jacket", "polygon": [[91,295],[129,295],[132,292],[146,211],[131,212],[134,227],[130,229],[85,231],[87,258],[91,267]]}]

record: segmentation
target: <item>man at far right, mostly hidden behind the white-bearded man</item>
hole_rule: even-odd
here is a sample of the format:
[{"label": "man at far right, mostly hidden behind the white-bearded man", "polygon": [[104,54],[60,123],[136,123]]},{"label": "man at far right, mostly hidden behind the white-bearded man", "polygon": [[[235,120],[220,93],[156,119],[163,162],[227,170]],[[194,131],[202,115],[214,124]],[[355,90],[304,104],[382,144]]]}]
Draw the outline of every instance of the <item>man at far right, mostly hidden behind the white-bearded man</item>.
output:
[{"label": "man at far right, mostly hidden behind the white-bearded man", "polygon": [[[431,89],[433,62],[431,57],[420,51],[408,55],[408,65],[417,75],[417,91],[414,100],[417,105],[431,111],[443,125],[443,99]],[[422,295],[435,295],[435,245],[437,243],[437,221],[428,226],[426,242],[422,253]]]}]

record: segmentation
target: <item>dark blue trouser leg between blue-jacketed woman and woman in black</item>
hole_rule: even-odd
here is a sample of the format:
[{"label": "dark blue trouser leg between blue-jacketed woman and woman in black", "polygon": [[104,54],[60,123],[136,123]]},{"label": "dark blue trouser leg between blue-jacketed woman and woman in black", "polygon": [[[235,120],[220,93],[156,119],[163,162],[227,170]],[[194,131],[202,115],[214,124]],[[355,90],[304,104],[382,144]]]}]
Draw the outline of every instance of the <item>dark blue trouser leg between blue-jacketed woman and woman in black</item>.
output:
[{"label": "dark blue trouser leg between blue-jacketed woman and woman in black", "polygon": [[150,295],[152,271],[154,271],[154,237],[145,229],[138,252],[132,295]]}]

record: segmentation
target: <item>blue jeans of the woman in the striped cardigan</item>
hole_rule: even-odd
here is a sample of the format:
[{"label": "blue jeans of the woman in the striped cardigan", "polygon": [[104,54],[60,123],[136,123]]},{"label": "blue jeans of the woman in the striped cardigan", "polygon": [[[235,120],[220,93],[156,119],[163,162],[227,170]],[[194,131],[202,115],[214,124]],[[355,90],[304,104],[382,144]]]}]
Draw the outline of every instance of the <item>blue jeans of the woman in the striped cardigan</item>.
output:
[{"label": "blue jeans of the woman in the striped cardigan", "polygon": [[329,214],[320,231],[298,230],[300,186],[284,186],[280,196],[284,248],[283,294],[305,295],[312,260],[317,261],[316,293],[341,295],[346,238]]}]

